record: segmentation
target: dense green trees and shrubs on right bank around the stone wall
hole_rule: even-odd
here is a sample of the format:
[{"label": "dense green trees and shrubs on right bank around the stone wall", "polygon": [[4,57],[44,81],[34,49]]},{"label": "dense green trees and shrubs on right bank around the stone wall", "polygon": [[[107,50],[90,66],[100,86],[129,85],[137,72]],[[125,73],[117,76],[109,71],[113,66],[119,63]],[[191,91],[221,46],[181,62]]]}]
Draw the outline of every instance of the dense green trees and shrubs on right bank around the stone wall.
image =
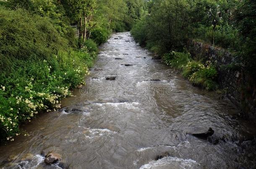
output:
[{"label": "dense green trees and shrubs on right bank around the stone wall", "polygon": [[189,40],[225,48],[235,55],[235,61],[227,68],[255,77],[254,0],[150,0],[148,14],[141,17],[131,33],[197,86],[216,89],[217,71],[214,63],[191,59],[187,51]]}]

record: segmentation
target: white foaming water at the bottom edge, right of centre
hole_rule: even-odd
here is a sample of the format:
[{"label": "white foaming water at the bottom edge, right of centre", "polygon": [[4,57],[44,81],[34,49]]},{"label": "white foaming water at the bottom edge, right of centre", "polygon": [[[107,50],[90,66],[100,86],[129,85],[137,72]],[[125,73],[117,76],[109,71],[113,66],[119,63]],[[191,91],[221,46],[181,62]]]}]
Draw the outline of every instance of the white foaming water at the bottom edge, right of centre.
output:
[{"label": "white foaming water at the bottom edge, right of centre", "polygon": [[181,159],[177,157],[164,157],[157,161],[150,161],[140,167],[140,169],[158,169],[158,168],[172,168],[172,169],[193,169],[200,166],[199,163],[192,159]]}]

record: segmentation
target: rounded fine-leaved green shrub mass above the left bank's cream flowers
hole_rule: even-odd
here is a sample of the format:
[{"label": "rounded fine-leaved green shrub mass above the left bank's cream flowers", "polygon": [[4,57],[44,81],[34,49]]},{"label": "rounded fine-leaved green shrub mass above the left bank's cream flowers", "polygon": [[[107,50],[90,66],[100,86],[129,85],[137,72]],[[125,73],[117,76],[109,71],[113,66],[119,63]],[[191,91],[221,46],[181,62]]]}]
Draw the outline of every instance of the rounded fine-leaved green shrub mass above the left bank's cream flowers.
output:
[{"label": "rounded fine-leaved green shrub mass above the left bank's cream flowers", "polygon": [[65,50],[65,37],[48,18],[0,8],[0,53],[4,55],[0,58],[1,70],[10,70],[13,59],[47,59],[52,53]]}]

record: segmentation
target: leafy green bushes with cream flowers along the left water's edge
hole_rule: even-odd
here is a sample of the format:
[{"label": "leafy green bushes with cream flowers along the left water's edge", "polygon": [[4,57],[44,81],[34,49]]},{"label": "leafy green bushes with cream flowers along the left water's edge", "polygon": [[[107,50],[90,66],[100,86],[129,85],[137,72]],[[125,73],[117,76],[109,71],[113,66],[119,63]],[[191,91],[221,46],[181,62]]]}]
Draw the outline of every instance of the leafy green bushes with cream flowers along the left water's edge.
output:
[{"label": "leafy green bushes with cream flowers along the left water's edge", "polygon": [[70,89],[84,83],[96,53],[61,51],[49,60],[20,61],[0,76],[0,136],[13,141],[19,124],[40,111],[55,110]]}]

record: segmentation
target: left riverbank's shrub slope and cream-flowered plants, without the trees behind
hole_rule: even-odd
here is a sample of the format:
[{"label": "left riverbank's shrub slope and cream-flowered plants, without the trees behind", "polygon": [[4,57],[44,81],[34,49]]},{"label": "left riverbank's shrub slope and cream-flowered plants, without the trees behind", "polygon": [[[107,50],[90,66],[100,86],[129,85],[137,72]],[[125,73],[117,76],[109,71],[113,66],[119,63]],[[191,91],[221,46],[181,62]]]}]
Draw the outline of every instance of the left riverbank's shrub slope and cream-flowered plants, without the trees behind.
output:
[{"label": "left riverbank's shrub slope and cream-flowered plants, without the trees behind", "polygon": [[60,107],[61,98],[84,84],[98,49],[92,40],[77,49],[73,28],[60,32],[50,18],[2,7],[0,12],[0,142],[4,142],[26,135],[20,124]]}]

